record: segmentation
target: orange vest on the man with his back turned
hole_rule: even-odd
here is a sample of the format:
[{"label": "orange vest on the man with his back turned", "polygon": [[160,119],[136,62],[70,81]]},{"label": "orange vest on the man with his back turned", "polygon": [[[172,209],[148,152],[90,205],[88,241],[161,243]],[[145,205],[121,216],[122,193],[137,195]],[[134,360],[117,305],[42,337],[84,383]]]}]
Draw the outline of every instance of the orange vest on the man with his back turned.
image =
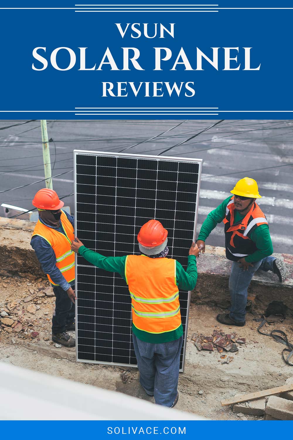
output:
[{"label": "orange vest on the man with his back turned", "polygon": [[125,278],[137,329],[164,333],[181,325],[176,260],[127,255]]}]

